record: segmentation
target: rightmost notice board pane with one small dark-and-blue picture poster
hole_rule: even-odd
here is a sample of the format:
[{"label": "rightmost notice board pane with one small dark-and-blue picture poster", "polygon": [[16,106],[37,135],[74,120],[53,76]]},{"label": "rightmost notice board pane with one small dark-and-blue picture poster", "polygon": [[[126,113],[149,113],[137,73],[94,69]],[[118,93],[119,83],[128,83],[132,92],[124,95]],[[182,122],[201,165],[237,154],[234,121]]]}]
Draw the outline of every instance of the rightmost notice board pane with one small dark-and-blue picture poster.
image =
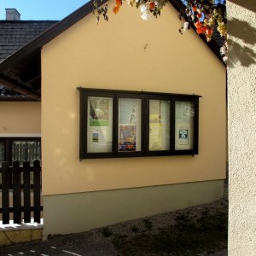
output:
[{"label": "rightmost notice board pane with one small dark-and-blue picture poster", "polygon": [[194,149],[194,102],[175,102],[175,150]]}]

